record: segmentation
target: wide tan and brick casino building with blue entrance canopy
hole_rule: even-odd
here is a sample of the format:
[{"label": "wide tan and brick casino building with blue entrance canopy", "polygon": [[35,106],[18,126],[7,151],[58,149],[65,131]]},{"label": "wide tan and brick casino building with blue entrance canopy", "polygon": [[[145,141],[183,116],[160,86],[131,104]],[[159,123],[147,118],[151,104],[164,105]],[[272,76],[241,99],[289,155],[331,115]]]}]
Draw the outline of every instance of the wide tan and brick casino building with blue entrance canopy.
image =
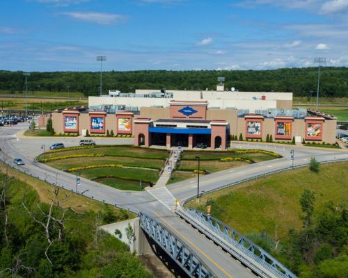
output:
[{"label": "wide tan and brick casino building with blue entrance canopy", "polygon": [[[334,143],[336,119],[292,108],[291,92],[136,90],[53,113],[56,133],[134,136],[134,145],[226,149],[231,138]],[[109,132],[108,132],[109,131]]]}]

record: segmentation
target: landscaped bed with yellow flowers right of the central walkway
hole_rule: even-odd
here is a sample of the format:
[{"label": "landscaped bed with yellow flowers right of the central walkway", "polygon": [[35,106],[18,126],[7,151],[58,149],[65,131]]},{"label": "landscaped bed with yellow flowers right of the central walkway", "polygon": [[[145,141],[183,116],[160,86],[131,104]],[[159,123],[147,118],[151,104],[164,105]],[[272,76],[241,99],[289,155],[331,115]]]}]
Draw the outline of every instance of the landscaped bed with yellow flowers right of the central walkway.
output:
[{"label": "landscaped bed with yellow flowers right of the central walkway", "polygon": [[228,151],[185,150],[177,163],[175,172],[172,174],[172,179],[168,183],[196,177],[198,172],[197,156],[200,157],[200,174],[209,174],[232,167],[282,157],[275,152],[262,149],[230,149]]}]

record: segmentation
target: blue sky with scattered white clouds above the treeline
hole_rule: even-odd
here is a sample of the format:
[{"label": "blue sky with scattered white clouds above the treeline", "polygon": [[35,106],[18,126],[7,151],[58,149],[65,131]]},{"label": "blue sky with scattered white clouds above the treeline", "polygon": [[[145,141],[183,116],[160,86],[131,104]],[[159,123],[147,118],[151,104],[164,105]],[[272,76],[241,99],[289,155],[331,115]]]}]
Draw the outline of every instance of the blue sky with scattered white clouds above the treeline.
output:
[{"label": "blue sky with scattered white clouds above the treeline", "polygon": [[0,70],[348,66],[348,0],[1,0]]}]

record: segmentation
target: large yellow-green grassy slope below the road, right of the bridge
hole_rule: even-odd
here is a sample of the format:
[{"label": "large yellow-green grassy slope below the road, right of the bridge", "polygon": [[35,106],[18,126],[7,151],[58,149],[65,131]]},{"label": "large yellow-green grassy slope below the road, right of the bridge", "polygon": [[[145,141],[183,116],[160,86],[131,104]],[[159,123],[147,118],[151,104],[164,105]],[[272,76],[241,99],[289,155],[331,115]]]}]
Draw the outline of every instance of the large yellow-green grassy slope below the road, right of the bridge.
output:
[{"label": "large yellow-green grassy slope below the road, right of the bridge", "polygon": [[290,228],[300,229],[299,197],[304,189],[315,193],[315,210],[326,202],[348,205],[348,162],[320,165],[319,173],[308,167],[272,174],[204,195],[200,204],[193,199],[187,206],[205,211],[207,198],[212,198],[212,215],[242,234],[275,234],[278,224],[280,238]]}]

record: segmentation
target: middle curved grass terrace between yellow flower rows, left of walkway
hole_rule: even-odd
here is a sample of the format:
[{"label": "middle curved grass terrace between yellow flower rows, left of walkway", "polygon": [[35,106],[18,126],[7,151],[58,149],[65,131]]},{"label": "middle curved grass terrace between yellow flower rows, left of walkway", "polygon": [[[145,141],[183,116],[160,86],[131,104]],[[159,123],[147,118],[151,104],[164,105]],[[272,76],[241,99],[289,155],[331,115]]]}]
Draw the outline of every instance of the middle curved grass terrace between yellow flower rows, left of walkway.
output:
[{"label": "middle curved grass terrace between yellow flower rows, left of walkway", "polygon": [[120,156],[102,156],[102,157],[86,157],[86,158],[66,158],[57,161],[49,161],[46,163],[51,167],[55,167],[59,170],[67,170],[73,167],[82,167],[88,165],[105,165],[105,164],[118,164],[130,167],[146,167],[155,168],[157,170],[164,167],[164,161],[161,159],[147,159],[133,158],[133,157],[120,157]]}]

